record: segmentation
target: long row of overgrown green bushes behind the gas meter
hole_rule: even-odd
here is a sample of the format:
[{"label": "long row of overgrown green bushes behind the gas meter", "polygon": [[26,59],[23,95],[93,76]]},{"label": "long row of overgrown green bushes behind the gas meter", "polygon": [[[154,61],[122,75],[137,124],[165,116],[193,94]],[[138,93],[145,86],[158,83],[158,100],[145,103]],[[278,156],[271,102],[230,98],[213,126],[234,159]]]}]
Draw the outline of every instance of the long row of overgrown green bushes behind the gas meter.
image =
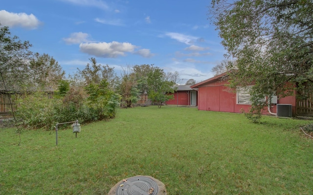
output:
[{"label": "long row of overgrown green bushes behind the gas meter", "polygon": [[[87,102],[79,91],[73,89],[63,98],[49,98],[43,92],[23,94],[17,98],[16,117],[24,128],[45,130],[54,130],[56,123],[75,120],[87,123],[115,117],[120,96],[113,93],[105,95],[104,99],[100,93],[94,102],[91,101],[92,104],[90,98]],[[103,102],[106,104],[101,104]],[[94,106],[98,104],[101,104],[101,109]]]}]

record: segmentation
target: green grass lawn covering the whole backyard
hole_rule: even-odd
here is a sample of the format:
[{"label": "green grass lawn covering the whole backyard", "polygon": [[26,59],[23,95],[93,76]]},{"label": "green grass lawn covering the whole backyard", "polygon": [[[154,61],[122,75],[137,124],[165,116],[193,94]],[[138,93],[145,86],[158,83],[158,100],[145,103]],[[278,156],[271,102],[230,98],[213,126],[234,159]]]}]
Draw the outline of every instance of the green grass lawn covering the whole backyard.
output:
[{"label": "green grass lawn covering the whole backyard", "polygon": [[105,195],[137,175],[168,195],[313,194],[312,121],[163,106],[119,109],[116,118],[72,130],[0,129],[0,194]]}]

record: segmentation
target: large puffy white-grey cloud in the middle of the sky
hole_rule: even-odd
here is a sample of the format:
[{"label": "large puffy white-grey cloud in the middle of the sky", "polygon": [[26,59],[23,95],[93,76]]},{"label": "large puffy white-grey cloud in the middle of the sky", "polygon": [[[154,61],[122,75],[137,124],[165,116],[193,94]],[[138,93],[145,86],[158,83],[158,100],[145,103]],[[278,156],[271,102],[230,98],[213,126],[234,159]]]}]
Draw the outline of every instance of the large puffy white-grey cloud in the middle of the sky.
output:
[{"label": "large puffy white-grey cloud in the middle of the sky", "polygon": [[80,51],[89,55],[103,58],[117,58],[118,56],[126,56],[126,52],[134,52],[135,45],[128,42],[112,41],[99,43],[81,43]]}]

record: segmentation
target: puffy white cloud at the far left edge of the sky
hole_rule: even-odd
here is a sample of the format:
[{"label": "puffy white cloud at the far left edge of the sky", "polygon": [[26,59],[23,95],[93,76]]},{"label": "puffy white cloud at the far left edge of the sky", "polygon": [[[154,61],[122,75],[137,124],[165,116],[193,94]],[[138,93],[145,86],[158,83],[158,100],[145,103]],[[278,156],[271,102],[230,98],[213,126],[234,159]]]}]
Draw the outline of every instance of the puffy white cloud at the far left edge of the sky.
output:
[{"label": "puffy white cloud at the far left edge of the sky", "polygon": [[0,23],[3,26],[22,26],[24,28],[36,29],[41,23],[33,14],[12,13],[0,10]]}]

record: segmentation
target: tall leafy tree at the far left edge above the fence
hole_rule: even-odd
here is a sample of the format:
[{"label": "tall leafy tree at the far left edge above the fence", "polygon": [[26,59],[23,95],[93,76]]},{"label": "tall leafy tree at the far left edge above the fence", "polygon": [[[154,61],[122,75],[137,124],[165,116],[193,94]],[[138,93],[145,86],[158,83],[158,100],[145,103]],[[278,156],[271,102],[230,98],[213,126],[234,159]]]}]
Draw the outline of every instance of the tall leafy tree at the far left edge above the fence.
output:
[{"label": "tall leafy tree at the far left edge above the fence", "polygon": [[2,89],[8,91],[22,90],[28,86],[29,64],[32,55],[29,41],[21,41],[17,36],[11,37],[9,27],[0,24],[0,77]]}]

